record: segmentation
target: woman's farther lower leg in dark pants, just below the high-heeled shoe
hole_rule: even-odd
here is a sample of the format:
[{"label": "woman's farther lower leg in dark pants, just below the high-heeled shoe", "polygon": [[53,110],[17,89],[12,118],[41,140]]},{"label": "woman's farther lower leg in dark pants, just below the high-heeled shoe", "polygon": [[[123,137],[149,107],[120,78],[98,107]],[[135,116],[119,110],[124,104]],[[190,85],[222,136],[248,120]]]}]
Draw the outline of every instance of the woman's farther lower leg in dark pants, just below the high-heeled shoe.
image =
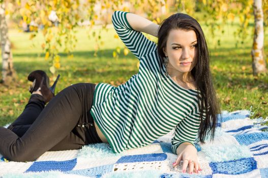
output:
[{"label": "woman's farther lower leg in dark pants, just below the high-heeled shoe", "polygon": [[19,137],[22,137],[29,127],[35,122],[41,111],[45,107],[44,98],[41,95],[33,94],[29,98],[23,112],[19,117],[8,127]]}]

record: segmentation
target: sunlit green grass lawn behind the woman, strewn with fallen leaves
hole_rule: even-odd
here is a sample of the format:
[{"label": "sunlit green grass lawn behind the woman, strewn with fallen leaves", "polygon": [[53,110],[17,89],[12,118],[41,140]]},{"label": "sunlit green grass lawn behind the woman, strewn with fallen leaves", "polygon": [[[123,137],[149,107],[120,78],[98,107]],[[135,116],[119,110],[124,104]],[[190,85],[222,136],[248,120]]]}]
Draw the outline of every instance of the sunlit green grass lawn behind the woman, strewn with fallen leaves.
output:
[{"label": "sunlit green grass lawn behind the woman, strewn with fallen leaves", "polygon": [[[235,27],[226,25],[225,34],[217,34],[216,39],[221,39],[221,46],[217,47],[217,40],[210,37],[207,27],[203,26],[203,29],[211,49],[211,69],[221,109],[234,111],[250,109],[252,106],[252,117],[268,116],[268,76],[252,76],[250,51],[253,38],[249,37],[243,45],[235,47],[232,35]],[[97,57],[93,56],[95,42],[88,39],[87,34],[86,29],[78,29],[78,43],[73,58],[61,53],[62,67],[58,70],[61,78],[57,84],[57,92],[77,82],[106,82],[117,86],[138,72],[138,60],[134,55],[121,54],[119,59],[112,57],[116,46],[124,46],[119,39],[114,39],[113,29],[102,33],[104,44]],[[26,79],[29,72],[41,69],[51,76],[49,65],[44,60],[44,51],[41,49],[42,34],[33,41],[28,40],[29,35],[16,29],[9,32],[14,44],[12,52],[18,78],[12,86],[0,85],[0,126],[14,121],[27,103],[30,96],[27,90],[31,85]],[[265,46],[267,45],[266,41]],[[265,53],[267,56],[267,50]],[[53,80],[52,76],[50,80]]]}]

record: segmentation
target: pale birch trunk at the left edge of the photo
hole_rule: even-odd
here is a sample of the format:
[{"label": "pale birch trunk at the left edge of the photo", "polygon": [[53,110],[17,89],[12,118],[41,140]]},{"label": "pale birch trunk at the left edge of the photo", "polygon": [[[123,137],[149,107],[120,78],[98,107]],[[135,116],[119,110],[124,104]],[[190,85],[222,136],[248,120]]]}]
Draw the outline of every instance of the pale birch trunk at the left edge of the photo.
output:
[{"label": "pale birch trunk at the left edge of the photo", "polygon": [[0,4],[0,35],[2,44],[2,80],[1,83],[9,85],[15,80],[15,70],[11,53],[11,43],[8,38],[8,25],[6,22],[5,2]]}]

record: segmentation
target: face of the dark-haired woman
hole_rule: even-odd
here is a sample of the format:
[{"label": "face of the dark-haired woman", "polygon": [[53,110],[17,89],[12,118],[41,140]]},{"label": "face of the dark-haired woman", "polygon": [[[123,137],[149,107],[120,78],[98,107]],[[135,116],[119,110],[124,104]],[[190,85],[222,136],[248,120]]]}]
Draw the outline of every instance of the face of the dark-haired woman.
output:
[{"label": "face of the dark-haired woman", "polygon": [[180,28],[171,29],[163,50],[169,58],[167,65],[169,74],[190,72],[197,62],[198,50],[195,32]]}]

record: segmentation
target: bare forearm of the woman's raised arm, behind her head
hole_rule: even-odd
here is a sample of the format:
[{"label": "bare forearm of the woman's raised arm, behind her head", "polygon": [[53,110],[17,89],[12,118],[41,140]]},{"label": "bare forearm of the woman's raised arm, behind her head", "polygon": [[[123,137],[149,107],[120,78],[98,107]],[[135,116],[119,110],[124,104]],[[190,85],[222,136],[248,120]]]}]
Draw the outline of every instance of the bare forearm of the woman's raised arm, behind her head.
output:
[{"label": "bare forearm of the woman's raised arm, behind her head", "polygon": [[138,32],[144,32],[146,34],[152,35],[157,37],[159,25],[155,24],[154,22],[141,17],[136,14],[128,13],[127,20],[130,26]]}]

